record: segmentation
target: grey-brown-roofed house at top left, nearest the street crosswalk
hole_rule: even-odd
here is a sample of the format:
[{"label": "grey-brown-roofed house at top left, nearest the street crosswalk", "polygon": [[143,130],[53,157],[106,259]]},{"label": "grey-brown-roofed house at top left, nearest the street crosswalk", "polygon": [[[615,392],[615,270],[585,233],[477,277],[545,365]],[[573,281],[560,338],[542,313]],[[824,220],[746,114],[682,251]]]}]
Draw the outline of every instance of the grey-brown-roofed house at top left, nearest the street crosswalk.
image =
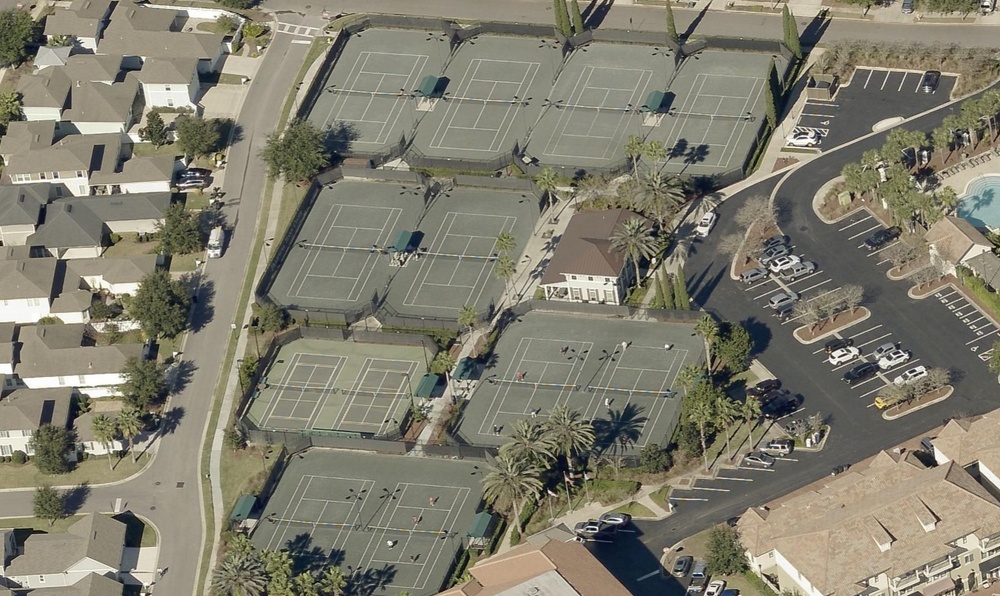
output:
[{"label": "grey-brown-roofed house at top left, nearest the street crosswalk", "polygon": [[139,70],[149,58],[189,58],[197,61],[198,72],[218,70],[225,51],[225,36],[181,32],[180,20],[174,10],[120,2],[111,13],[111,23],[98,51],[124,56],[129,70]]}]

